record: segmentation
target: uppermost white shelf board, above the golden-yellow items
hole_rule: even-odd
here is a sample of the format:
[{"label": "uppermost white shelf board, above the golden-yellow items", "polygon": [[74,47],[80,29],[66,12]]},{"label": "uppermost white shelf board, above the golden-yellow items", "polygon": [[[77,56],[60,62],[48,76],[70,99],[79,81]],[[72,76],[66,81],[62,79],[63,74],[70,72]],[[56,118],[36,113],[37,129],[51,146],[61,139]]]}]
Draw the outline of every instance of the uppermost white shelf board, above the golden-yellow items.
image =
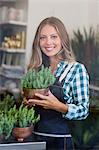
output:
[{"label": "uppermost white shelf board, above the golden-yellow items", "polygon": [[26,22],[22,22],[22,21],[14,21],[14,20],[8,20],[5,22],[1,22],[0,25],[19,25],[19,26],[27,26]]}]

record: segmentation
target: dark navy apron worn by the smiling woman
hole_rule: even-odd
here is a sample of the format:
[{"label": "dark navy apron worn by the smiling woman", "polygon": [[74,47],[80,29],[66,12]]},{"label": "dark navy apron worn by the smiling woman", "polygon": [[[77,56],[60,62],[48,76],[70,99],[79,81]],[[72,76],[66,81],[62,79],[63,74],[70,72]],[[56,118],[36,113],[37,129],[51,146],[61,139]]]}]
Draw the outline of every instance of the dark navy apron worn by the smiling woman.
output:
[{"label": "dark navy apron worn by the smiling woman", "polygon": [[[57,80],[53,86],[50,86],[50,91],[64,102],[63,88]],[[35,125],[35,131],[60,135],[69,134],[67,120],[62,117],[62,113],[40,106],[36,107],[36,112],[40,114],[40,121]]]}]

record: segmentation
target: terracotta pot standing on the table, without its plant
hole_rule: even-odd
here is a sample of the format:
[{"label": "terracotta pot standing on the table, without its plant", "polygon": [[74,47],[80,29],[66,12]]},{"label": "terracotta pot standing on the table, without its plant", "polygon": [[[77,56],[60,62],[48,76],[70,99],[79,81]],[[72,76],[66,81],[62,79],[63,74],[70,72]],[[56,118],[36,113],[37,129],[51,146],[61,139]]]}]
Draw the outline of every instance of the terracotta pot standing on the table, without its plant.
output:
[{"label": "terracotta pot standing on the table, without its plant", "polygon": [[32,131],[33,126],[24,128],[15,127],[13,129],[13,135],[18,141],[22,142],[25,138],[27,138],[32,134]]}]

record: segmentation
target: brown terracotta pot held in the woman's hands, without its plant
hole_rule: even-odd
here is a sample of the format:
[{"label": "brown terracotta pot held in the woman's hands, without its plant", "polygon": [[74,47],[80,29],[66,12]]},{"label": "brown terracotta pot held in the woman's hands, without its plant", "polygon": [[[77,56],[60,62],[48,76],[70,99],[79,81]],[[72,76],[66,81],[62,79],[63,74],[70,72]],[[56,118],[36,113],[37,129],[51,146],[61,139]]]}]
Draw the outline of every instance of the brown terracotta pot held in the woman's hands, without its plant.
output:
[{"label": "brown terracotta pot held in the woman's hands, without its plant", "polygon": [[46,89],[23,89],[23,93],[24,93],[24,97],[26,97],[26,99],[29,98],[36,98],[38,99],[38,97],[35,96],[35,93],[40,93],[43,95],[48,95],[48,88]]}]

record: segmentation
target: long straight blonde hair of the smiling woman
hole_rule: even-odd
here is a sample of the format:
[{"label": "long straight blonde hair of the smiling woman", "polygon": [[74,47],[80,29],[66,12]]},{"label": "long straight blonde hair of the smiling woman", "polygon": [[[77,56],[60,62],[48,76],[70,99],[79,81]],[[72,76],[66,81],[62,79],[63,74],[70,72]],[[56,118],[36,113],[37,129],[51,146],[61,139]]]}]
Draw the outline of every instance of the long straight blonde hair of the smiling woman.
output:
[{"label": "long straight blonde hair of the smiling woman", "polygon": [[[56,57],[60,59],[60,55],[63,57],[62,60],[66,60],[68,62],[75,61],[75,56],[71,48],[70,40],[68,33],[64,24],[56,17],[49,17],[44,19],[38,26],[37,31],[35,33],[33,45],[32,45],[32,56],[30,59],[29,68],[38,68],[42,65],[42,52],[40,49],[40,33],[42,28],[45,25],[50,25],[55,28],[57,31],[61,43],[62,43],[62,52],[60,52]],[[63,53],[63,55],[62,55]]]}]

